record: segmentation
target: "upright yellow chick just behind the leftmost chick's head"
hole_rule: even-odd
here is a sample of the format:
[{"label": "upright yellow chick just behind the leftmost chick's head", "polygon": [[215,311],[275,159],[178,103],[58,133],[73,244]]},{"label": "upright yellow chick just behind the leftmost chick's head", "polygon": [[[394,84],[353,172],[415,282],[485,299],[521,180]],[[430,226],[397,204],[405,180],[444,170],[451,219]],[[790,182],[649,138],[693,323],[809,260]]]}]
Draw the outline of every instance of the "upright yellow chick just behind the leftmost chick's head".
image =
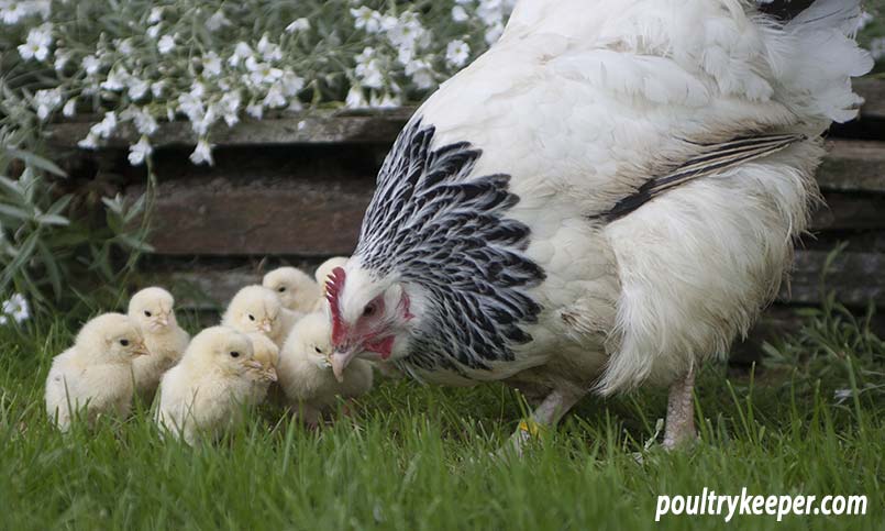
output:
[{"label": "upright yellow chick just behind the leftmost chick's head", "polygon": [[163,288],[145,288],[129,301],[129,317],[142,329],[147,356],[132,363],[135,392],[151,401],[163,373],[181,359],[190,335],[175,319],[175,299]]}]

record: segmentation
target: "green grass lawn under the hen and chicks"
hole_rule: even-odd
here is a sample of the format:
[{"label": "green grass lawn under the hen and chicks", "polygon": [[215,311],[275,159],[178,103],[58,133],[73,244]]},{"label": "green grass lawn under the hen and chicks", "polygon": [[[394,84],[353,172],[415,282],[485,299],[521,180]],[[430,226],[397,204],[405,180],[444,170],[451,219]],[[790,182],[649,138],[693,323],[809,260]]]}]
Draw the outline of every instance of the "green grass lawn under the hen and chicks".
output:
[{"label": "green grass lawn under the hen and chicks", "polygon": [[[46,422],[63,322],[0,331],[0,529],[651,529],[659,494],[866,495],[864,517],[664,517],[670,529],[882,529],[885,346],[838,307],[770,346],[756,377],[707,366],[701,441],[644,450],[663,391],[587,399],[522,458],[493,457],[521,417],[502,386],[387,380],[319,432],[269,408],[217,443],[129,420],[62,435]],[[833,391],[853,388],[837,403]],[[642,452],[640,464],[635,452]]]}]

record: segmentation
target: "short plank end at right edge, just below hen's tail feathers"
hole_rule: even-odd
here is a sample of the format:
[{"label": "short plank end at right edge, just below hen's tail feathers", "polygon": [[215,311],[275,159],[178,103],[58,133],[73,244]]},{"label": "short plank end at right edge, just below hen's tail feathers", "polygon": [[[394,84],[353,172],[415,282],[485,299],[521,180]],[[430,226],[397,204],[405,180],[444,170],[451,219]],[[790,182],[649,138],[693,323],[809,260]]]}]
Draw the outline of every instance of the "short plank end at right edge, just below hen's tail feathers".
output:
[{"label": "short plank end at right edge, just below hen's tail feathers", "polygon": [[885,142],[828,141],[817,179],[825,191],[885,193]]}]

